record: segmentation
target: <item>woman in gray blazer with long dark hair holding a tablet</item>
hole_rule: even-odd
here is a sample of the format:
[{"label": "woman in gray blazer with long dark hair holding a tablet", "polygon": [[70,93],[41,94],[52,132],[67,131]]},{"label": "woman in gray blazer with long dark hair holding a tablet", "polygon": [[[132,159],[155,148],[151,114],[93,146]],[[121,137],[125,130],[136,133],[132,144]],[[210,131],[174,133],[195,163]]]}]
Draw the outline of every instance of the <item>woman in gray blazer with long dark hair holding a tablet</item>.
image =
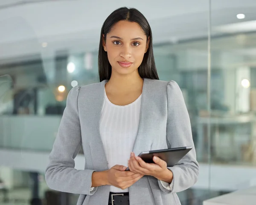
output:
[{"label": "woman in gray blazer with long dark hair holding a tablet", "polygon": [[[102,26],[100,83],[67,97],[49,156],[49,188],[80,194],[78,205],[174,205],[198,177],[195,148],[174,167],[141,151],[194,146],[177,83],[158,79],[152,33],[136,9],[113,11]],[[84,170],[74,168],[83,146]],[[127,166],[130,171],[125,171]]]}]

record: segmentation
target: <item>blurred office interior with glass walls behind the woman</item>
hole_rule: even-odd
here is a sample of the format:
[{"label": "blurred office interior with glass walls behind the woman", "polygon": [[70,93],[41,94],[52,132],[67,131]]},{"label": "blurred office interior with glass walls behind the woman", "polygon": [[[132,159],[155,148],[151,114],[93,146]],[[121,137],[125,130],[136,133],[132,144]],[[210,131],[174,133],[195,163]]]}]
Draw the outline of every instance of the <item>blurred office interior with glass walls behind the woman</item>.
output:
[{"label": "blurred office interior with glass walls behind the woman", "polygon": [[121,6],[148,19],[160,80],[186,101],[200,176],[182,205],[256,186],[255,0],[1,0],[1,205],[76,205],[44,169],[67,93],[99,82],[100,29]]}]

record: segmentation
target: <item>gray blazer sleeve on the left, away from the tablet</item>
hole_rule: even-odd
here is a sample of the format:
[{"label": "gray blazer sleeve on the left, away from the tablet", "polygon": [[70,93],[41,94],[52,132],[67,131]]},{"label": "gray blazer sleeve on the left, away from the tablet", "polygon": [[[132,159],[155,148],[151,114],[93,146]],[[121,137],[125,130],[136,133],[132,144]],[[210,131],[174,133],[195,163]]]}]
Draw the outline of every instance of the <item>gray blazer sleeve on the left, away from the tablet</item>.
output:
[{"label": "gray blazer sleeve on the left, away from the tablet", "polygon": [[79,86],[71,89],[67,105],[58,128],[45,179],[49,188],[73,194],[93,195],[97,188],[91,189],[92,174],[95,170],[76,170],[75,157],[81,148],[81,128],[79,122]]}]

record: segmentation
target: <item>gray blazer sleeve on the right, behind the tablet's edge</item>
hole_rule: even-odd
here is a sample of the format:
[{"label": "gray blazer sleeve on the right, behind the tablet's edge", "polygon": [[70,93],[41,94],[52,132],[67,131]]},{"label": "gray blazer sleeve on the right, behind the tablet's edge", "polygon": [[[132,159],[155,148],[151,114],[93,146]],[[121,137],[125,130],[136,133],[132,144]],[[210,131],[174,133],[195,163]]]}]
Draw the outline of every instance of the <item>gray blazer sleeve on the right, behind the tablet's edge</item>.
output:
[{"label": "gray blazer sleeve on the right, behind the tablet's edge", "polygon": [[168,167],[173,173],[173,185],[171,191],[164,188],[158,180],[160,189],[170,193],[180,192],[194,185],[198,179],[199,165],[196,160],[189,114],[182,92],[175,81],[169,81],[167,84],[167,100],[168,116],[166,138],[168,148],[193,147],[177,165]]}]

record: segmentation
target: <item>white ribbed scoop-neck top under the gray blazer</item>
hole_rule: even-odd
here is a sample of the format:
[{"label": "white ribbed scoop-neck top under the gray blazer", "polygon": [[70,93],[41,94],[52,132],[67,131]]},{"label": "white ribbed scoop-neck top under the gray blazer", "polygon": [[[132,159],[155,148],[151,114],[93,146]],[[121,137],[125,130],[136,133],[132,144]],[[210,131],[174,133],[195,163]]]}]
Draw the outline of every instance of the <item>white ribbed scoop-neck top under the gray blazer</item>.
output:
[{"label": "white ribbed scoop-neck top under the gray blazer", "polygon": [[[114,105],[105,99],[102,106],[100,135],[104,145],[108,167],[114,165],[128,166],[131,151],[134,147],[140,120],[141,95],[129,105]],[[111,192],[128,192],[111,186]]]}]

